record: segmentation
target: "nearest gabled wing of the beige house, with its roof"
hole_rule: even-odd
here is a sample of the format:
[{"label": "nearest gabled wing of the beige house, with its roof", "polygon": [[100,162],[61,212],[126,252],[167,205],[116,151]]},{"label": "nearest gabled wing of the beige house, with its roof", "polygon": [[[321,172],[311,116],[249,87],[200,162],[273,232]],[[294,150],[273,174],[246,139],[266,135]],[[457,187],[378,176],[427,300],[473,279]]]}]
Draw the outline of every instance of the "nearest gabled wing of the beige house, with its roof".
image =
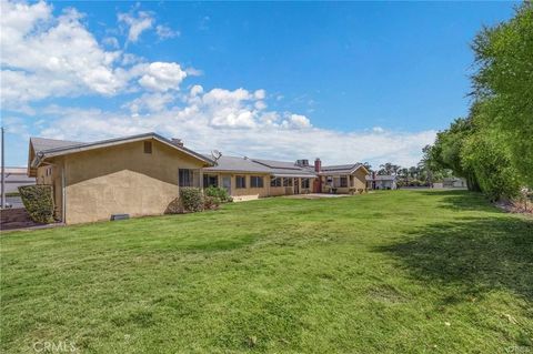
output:
[{"label": "nearest gabled wing of the beige house, with its roof", "polygon": [[155,133],[92,143],[30,139],[29,176],[53,188],[56,218],[66,223],[112,214],[163,214],[180,186],[201,186],[213,161]]}]

